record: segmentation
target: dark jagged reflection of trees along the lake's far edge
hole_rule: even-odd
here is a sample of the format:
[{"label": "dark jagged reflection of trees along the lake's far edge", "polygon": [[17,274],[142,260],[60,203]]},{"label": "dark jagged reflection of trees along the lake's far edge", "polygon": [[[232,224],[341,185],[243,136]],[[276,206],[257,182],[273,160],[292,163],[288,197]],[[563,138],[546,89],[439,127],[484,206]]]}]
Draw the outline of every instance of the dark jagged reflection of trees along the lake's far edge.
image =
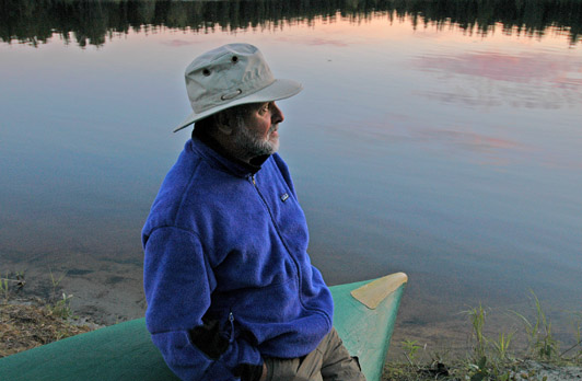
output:
[{"label": "dark jagged reflection of trees along the lake's far edge", "polygon": [[144,27],[276,28],[338,13],[356,22],[410,16],[416,25],[454,24],[482,34],[497,23],[532,36],[555,27],[572,44],[582,39],[582,0],[0,0],[0,39],[36,45],[57,33],[80,46],[103,45],[114,33]]}]

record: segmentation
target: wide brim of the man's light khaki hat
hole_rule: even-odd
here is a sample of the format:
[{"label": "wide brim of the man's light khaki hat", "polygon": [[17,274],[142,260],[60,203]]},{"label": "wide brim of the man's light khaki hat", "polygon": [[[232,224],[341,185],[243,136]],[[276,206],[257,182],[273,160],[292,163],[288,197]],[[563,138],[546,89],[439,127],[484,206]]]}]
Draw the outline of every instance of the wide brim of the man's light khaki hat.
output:
[{"label": "wide brim of the man's light khaki hat", "polygon": [[184,122],[182,122],[175,129],[174,132],[179,131],[183,128],[188,127],[196,120],[200,120],[206,118],[207,116],[213,115],[216,113],[219,113],[223,109],[238,106],[242,104],[248,104],[248,103],[260,103],[260,102],[272,102],[272,101],[279,101],[284,100],[287,97],[293,96],[298,94],[301,90],[303,90],[303,85],[299,82],[295,82],[293,80],[288,79],[277,79],[275,82],[269,84],[268,86],[254,92],[253,94],[249,94],[247,96],[233,100],[232,102],[222,104],[217,107],[212,107],[210,109],[207,109],[201,113],[193,112]]}]

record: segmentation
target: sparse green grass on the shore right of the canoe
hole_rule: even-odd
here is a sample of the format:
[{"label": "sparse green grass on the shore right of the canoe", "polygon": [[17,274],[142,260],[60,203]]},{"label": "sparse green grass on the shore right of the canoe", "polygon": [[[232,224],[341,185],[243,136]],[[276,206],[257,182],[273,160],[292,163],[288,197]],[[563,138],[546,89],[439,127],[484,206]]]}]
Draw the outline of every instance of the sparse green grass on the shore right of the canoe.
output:
[{"label": "sparse green grass on the shore right of the canoe", "polygon": [[[384,380],[426,381],[426,380],[459,380],[459,381],[546,381],[545,372],[550,368],[561,369],[578,367],[577,378],[582,377],[582,312],[574,314],[575,344],[566,350],[559,350],[559,342],[551,331],[551,322],[544,312],[539,299],[532,292],[534,316],[512,311],[522,323],[527,347],[522,350],[514,348],[514,338],[519,332],[501,332],[498,335],[486,335],[488,310],[479,304],[463,311],[472,327],[472,348],[465,358],[452,361],[443,360],[438,354],[430,360],[419,363],[417,355],[420,348],[417,340],[404,340],[401,347],[407,359],[405,363],[387,363]],[[555,370],[560,373],[560,370]],[[561,376],[554,378],[562,380]]]}]

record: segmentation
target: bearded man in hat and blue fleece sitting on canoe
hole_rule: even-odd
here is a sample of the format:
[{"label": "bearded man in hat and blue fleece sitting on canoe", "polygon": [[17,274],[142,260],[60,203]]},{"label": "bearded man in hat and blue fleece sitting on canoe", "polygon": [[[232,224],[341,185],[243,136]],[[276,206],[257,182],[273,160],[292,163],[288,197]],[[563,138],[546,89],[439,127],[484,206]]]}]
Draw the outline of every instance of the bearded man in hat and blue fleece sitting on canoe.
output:
[{"label": "bearded man in hat and blue fleece sitting on canoe", "polygon": [[307,226],[279,147],[275,79],[260,51],[231,44],[186,69],[193,138],[143,227],[146,314],[184,380],[363,380],[333,330]]}]

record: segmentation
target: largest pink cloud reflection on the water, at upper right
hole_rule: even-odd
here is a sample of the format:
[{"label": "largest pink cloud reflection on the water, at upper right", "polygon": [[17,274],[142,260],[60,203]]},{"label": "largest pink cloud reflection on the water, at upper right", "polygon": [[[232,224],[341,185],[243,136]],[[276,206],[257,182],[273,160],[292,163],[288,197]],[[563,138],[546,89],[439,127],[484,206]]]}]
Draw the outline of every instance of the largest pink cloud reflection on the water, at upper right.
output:
[{"label": "largest pink cloud reflection on the water, at upper right", "polygon": [[[422,94],[442,103],[491,107],[509,101],[512,107],[543,109],[582,104],[580,62],[556,51],[431,54],[417,57],[414,65],[422,71],[446,76],[449,82],[470,81],[470,88],[465,90],[438,89]],[[532,92],[532,88],[536,91]]]}]

